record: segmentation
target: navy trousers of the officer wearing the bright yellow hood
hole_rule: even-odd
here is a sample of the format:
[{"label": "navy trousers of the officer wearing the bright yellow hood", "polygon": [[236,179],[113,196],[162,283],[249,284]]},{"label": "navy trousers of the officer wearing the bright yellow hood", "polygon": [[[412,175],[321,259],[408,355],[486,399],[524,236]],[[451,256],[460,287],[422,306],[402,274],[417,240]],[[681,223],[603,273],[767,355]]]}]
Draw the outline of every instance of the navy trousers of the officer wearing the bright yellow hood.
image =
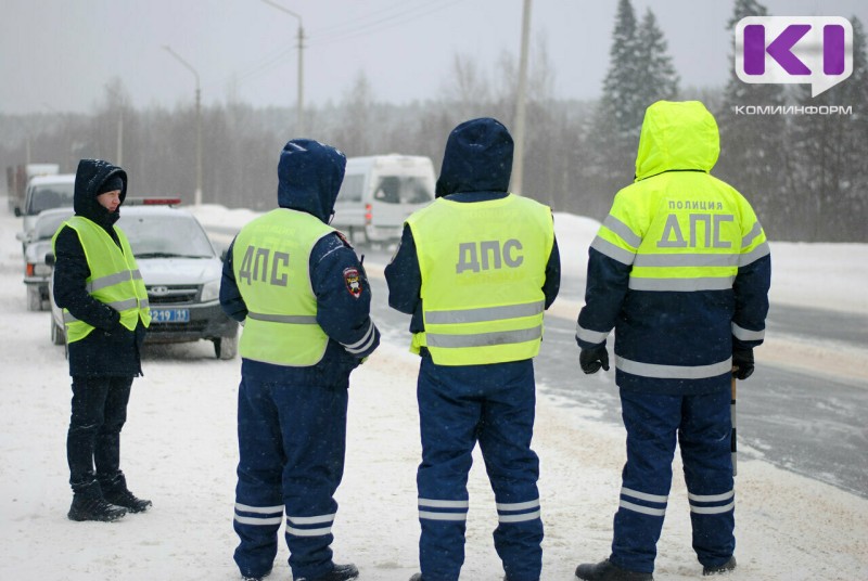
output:
[{"label": "navy trousers of the officer wearing the bright yellow hood", "polygon": [[730,397],[728,389],[693,396],[621,389],[627,463],[614,519],[612,563],[653,572],[672,485],[676,435],[699,561],[716,566],[732,556],[736,499]]}]

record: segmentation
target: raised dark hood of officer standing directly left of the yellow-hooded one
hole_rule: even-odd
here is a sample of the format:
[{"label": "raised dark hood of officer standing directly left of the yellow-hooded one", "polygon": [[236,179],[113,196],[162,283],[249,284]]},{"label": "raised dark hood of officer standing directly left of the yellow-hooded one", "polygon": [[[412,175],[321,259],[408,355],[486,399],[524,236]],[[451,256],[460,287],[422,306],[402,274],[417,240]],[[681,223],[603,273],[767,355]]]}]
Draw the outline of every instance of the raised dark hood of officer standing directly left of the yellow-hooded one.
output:
[{"label": "raised dark hood of officer standing directly left of the yellow-hooded one", "polygon": [[436,196],[507,192],[512,150],[512,135],[497,119],[484,117],[462,122],[446,141]]}]

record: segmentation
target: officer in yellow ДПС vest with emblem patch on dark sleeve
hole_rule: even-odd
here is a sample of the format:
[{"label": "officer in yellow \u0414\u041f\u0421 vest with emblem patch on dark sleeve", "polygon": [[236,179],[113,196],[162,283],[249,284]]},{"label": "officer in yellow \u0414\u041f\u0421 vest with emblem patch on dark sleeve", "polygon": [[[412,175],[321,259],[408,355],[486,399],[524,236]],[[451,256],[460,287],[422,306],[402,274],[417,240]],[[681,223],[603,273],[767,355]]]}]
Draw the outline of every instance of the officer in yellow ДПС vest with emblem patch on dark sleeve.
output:
[{"label": "officer in yellow \u0414\u041f\u0421 vest with emblem patch on dark sleeve", "polygon": [[278,531],[293,578],[355,579],[332,561],[334,492],[346,447],[350,372],[380,344],[371,289],[349,243],[328,225],[346,158],[296,139],[278,164],[278,204],[246,224],[224,266],[220,304],[244,324],[238,401],[234,559],[244,579],[272,568]]}]

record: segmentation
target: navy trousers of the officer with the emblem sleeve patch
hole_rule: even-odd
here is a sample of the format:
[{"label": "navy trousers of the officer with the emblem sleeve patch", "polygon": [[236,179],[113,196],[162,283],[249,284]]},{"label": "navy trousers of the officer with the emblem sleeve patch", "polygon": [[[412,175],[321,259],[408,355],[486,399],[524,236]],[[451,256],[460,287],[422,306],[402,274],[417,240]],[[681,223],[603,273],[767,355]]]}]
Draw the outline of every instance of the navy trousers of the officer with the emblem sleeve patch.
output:
[{"label": "navy trousers of the officer with the emblem sleeve patch", "polygon": [[234,559],[243,576],[271,570],[285,509],[293,577],[332,570],[333,495],[344,474],[346,386],[268,383],[242,373]]}]

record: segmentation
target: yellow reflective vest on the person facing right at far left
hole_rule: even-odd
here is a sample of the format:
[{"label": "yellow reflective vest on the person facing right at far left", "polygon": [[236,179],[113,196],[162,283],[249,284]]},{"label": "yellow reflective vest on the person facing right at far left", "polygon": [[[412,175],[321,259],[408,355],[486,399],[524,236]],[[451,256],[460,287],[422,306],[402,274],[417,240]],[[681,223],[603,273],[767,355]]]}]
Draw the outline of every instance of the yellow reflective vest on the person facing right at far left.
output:
[{"label": "yellow reflective vest on the person facing right at far left", "polygon": [[[118,248],[102,227],[82,216],[73,216],[58,229],[51,241],[52,247],[64,225],[75,230],[85,250],[85,258],[90,269],[90,276],[86,281],[88,294],[119,312],[120,324],[128,330],[133,331],[140,320],[145,327],[149,326],[151,310],[148,304],[148,290],[126,234],[119,228],[115,228],[120,242]],[[94,328],[73,317],[68,309],[63,309],[63,322],[68,343],[84,339]]]}]

